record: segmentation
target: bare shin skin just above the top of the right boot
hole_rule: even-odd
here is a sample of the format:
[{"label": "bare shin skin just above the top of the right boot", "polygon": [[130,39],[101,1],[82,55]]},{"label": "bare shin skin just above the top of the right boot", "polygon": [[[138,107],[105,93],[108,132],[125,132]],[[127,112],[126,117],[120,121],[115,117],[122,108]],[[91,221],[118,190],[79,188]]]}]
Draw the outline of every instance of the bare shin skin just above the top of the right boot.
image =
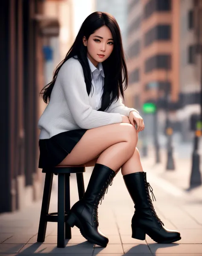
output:
[{"label": "bare shin skin just above the top of the right boot", "polygon": [[133,172],[143,172],[138,148],[135,149],[132,157],[121,166],[122,175],[127,175]]}]

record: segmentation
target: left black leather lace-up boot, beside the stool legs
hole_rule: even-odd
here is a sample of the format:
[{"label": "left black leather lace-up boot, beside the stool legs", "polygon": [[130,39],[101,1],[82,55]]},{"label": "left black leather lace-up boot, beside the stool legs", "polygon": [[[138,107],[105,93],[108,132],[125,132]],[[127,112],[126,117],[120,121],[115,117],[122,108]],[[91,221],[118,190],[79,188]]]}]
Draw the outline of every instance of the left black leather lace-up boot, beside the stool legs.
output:
[{"label": "left black leather lace-up boot, beside the stool legs", "polygon": [[109,239],[98,228],[98,204],[114,177],[112,169],[96,163],[84,197],[72,206],[66,221],[71,227],[78,227],[89,242],[102,247],[107,246]]}]

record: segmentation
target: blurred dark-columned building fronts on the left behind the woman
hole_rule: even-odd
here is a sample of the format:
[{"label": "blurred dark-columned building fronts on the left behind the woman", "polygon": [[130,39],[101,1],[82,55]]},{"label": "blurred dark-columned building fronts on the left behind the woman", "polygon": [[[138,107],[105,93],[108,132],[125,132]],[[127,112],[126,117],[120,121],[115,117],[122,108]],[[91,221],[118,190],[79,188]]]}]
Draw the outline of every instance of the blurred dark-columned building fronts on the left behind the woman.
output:
[{"label": "blurred dark-columned building fronts on the left behind the woman", "polygon": [[40,91],[94,11],[93,0],[87,0],[80,15],[81,1],[1,3],[0,212],[22,209],[42,196],[45,176],[38,169],[37,124],[46,104]]}]

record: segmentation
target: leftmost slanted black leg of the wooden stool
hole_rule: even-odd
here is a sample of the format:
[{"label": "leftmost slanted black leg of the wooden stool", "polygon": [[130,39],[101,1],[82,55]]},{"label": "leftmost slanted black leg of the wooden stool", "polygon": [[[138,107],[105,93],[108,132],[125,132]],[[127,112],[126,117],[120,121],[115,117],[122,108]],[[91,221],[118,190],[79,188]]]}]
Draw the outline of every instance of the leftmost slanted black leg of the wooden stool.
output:
[{"label": "leftmost slanted black leg of the wooden stool", "polygon": [[52,179],[53,179],[53,173],[46,173],[44,189],[43,189],[42,206],[41,206],[41,212],[40,212],[38,237],[37,237],[37,241],[42,243],[44,242],[45,235],[46,235],[46,227],[47,227],[46,215],[49,212]]}]

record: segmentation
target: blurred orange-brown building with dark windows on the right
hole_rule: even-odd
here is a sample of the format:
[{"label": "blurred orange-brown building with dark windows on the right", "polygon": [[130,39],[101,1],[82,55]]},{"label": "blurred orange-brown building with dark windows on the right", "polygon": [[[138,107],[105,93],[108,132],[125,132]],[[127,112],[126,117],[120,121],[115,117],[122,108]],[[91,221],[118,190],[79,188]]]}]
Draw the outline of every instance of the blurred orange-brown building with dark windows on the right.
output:
[{"label": "blurred orange-brown building with dark windows on the right", "polygon": [[144,102],[156,103],[162,131],[168,109],[174,130],[183,134],[184,140],[189,135],[190,115],[200,112],[195,2],[128,0],[127,105],[140,109]]}]

